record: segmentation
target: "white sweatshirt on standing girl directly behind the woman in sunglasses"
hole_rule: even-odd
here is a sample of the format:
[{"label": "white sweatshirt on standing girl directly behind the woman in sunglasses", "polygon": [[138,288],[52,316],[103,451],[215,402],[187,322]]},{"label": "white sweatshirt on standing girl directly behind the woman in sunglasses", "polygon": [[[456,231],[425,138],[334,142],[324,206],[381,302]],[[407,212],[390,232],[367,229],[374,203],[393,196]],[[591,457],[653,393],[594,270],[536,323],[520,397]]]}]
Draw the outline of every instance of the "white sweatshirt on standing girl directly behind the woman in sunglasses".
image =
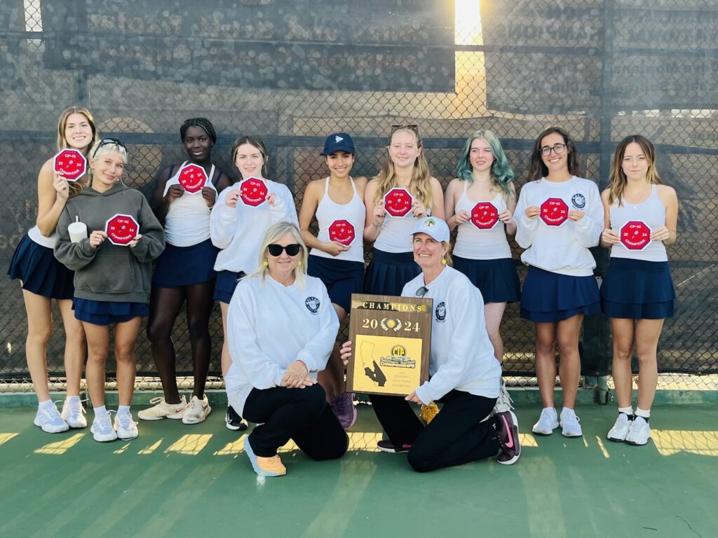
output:
[{"label": "white sweatshirt on standing girl directly behind the woman in sunglasses", "polygon": [[237,201],[237,207],[228,207],[227,194],[240,188],[241,181],[220,192],[210,213],[210,237],[215,247],[222,250],[217,255],[215,271],[252,273],[257,268],[259,247],[264,234],[275,222],[286,220],[299,227],[294,198],[286,185],[264,180],[269,193],[275,194],[274,206],[264,202],[258,207]]}]

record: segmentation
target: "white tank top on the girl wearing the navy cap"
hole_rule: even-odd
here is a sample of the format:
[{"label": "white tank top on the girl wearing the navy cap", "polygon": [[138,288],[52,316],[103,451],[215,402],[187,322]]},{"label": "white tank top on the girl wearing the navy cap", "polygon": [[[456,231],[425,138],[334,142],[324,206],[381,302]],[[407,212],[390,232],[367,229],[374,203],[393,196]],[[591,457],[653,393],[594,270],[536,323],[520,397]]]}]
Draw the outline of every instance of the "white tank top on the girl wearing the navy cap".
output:
[{"label": "white tank top on the girl wearing the navy cap", "polygon": [[[329,178],[327,177],[324,187],[324,196],[317,205],[317,222],[319,223],[317,239],[322,242],[337,240],[344,245],[349,245],[349,250],[332,256],[323,250],[312,248],[309,254],[329,258],[330,260],[348,260],[351,262],[364,263],[364,221],[366,219],[366,209],[363,200],[357,193],[354,180],[349,178],[349,181],[351,181],[354,196],[347,204],[337,204],[330,198]],[[332,237],[330,237],[330,235]]]}]

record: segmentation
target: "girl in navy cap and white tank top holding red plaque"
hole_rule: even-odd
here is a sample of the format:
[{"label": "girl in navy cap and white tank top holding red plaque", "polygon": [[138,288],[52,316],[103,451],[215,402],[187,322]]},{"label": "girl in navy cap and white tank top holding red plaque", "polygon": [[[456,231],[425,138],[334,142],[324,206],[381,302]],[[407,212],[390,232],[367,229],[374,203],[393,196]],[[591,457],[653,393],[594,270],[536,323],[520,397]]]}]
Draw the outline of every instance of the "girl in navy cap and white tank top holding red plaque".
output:
[{"label": "girl in navy cap and white tank top holding red plaque", "polygon": [[[366,178],[349,175],[355,151],[354,141],[347,133],[327,136],[322,156],[327,159],[330,175],[307,184],[299,212],[302,239],[312,247],[307,274],[320,278],[327,286],[340,322],[351,310],[352,293],[361,293],[364,279]],[[316,237],[309,231],[314,217],[319,226]],[[330,356],[327,368],[319,373],[319,382],[342,427],[348,430],[355,423],[357,412],[353,393],[345,391],[344,364],[338,348]]]}]

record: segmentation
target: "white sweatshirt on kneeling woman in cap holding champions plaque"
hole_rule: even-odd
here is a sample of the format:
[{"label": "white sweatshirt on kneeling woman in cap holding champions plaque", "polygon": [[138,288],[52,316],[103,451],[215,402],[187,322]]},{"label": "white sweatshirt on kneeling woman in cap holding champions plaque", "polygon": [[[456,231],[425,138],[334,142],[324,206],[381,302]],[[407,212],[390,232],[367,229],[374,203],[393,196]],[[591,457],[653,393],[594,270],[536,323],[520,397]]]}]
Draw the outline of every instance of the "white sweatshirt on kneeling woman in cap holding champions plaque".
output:
[{"label": "white sweatshirt on kneeling woman in cap holding champions plaque", "polygon": [[[416,297],[423,273],[404,285],[403,297]],[[429,381],[416,389],[428,404],[451,390],[496,398],[501,365],[486,332],[481,292],[465,275],[449,266],[426,285],[425,298],[434,299]]]}]

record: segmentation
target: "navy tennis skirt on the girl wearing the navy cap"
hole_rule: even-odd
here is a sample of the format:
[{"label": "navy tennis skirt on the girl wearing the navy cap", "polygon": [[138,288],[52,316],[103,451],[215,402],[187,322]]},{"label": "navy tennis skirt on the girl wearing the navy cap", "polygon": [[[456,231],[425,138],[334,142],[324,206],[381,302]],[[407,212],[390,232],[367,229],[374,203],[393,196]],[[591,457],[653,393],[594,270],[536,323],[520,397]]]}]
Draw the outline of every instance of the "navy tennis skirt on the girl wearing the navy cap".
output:
[{"label": "navy tennis skirt on the girl wearing the navy cap", "polygon": [[322,280],[327,286],[332,303],[338,304],[349,313],[352,308],[352,293],[362,292],[364,263],[309,255],[307,275]]}]

